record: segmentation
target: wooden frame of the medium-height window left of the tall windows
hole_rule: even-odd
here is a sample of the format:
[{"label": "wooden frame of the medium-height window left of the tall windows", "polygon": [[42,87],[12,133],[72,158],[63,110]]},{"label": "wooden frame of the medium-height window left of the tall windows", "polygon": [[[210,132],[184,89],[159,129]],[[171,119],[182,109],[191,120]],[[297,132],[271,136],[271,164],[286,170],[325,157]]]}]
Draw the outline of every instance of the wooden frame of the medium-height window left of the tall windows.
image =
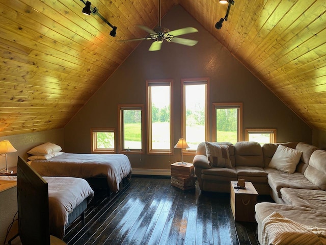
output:
[{"label": "wooden frame of the medium-height window left of the tall windows", "polygon": [[[132,108],[138,109],[140,108],[141,111],[141,128],[142,128],[142,149],[130,149],[127,151],[123,149],[123,110],[132,110]],[[120,104],[118,105],[118,133],[119,133],[119,142],[118,142],[118,152],[123,154],[145,154],[145,111],[144,111],[144,104]]]}]

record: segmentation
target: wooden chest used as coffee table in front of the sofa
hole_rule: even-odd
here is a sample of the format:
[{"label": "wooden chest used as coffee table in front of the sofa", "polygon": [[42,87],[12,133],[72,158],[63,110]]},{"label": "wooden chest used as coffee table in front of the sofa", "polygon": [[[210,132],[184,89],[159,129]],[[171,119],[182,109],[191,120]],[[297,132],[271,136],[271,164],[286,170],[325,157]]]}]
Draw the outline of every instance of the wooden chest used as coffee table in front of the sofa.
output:
[{"label": "wooden chest used as coffee table in front of the sofa", "polygon": [[258,192],[251,182],[245,182],[246,189],[234,189],[237,181],[231,181],[231,209],[234,220],[255,222],[255,205]]}]

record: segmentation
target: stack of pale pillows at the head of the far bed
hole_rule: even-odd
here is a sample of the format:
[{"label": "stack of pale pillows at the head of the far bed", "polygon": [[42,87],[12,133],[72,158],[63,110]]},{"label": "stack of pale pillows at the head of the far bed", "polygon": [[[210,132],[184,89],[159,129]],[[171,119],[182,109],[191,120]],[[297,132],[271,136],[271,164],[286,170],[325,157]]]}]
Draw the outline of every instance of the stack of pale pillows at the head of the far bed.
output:
[{"label": "stack of pale pillows at the head of the far bed", "polygon": [[61,150],[62,150],[61,146],[47,142],[47,143],[35,146],[33,149],[28,151],[27,153],[32,155],[28,159],[31,161],[47,160],[52,157],[59,156],[59,155],[63,154],[63,152],[61,152]]}]

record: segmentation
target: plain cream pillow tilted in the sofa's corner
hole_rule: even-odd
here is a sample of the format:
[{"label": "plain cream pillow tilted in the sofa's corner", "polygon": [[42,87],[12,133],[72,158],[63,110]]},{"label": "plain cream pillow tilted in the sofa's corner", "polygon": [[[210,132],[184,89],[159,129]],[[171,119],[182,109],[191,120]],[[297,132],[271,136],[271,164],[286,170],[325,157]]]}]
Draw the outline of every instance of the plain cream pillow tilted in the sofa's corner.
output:
[{"label": "plain cream pillow tilted in the sofa's corner", "polygon": [[285,173],[293,174],[299,163],[302,151],[280,144],[271,158],[268,167],[276,168]]}]

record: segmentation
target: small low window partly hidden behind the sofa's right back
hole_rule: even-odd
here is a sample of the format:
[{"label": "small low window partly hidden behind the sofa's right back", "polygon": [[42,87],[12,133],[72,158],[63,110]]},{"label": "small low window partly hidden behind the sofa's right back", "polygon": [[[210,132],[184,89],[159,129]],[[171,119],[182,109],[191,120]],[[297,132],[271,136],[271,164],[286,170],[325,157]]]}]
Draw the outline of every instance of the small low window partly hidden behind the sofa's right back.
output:
[{"label": "small low window partly hidden behind the sofa's right back", "polygon": [[276,129],[246,129],[246,141],[256,141],[261,145],[276,143]]}]

